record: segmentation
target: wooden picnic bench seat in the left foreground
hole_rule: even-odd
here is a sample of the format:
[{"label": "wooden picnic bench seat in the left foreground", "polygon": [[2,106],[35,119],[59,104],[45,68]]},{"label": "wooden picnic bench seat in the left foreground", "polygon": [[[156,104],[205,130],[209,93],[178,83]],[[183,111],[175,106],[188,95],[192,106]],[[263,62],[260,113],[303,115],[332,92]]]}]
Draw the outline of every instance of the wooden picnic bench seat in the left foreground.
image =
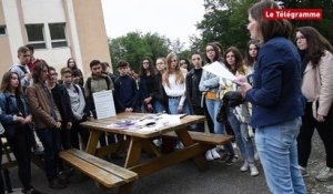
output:
[{"label": "wooden picnic bench seat in the left foreground", "polygon": [[93,178],[98,187],[112,188],[120,186],[120,194],[131,193],[132,183],[138,178],[138,174],[130,170],[77,149],[62,151],[59,153],[59,156],[80,172]]}]

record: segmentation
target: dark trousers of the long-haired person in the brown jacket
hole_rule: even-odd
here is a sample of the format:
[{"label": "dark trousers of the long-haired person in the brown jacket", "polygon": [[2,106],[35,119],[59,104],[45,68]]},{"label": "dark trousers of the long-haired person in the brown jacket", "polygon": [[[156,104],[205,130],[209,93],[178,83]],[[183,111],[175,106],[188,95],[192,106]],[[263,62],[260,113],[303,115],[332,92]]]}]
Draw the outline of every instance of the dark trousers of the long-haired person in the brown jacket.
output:
[{"label": "dark trousers of the long-haired person in the brown jacket", "polygon": [[38,137],[44,147],[44,165],[46,173],[49,181],[57,177],[57,167],[59,167],[60,159],[58,153],[60,151],[60,130],[57,129],[38,129],[36,130]]}]

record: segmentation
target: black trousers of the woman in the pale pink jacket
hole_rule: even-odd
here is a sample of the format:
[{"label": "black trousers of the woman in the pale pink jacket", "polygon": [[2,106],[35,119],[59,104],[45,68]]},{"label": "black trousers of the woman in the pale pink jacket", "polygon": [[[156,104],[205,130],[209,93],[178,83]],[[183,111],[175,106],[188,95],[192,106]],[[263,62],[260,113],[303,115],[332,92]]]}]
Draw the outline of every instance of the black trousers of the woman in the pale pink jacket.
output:
[{"label": "black trousers of the woman in the pale pink jacket", "polygon": [[333,110],[329,112],[325,122],[317,122],[312,114],[312,103],[306,103],[305,113],[302,116],[302,126],[297,136],[299,164],[306,167],[312,149],[312,135],[316,129],[322,139],[326,152],[326,166],[333,167]]}]

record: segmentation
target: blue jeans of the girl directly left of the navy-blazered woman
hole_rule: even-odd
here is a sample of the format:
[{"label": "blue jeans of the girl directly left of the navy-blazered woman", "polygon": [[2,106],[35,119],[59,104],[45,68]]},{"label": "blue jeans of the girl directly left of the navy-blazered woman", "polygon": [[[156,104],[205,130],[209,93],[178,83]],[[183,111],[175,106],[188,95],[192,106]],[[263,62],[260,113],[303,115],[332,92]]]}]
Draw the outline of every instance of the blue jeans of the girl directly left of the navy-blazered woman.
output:
[{"label": "blue jeans of the girl directly left of the navy-blazered woman", "polygon": [[241,123],[232,111],[233,109],[230,109],[228,113],[228,121],[234,133],[242,157],[250,163],[254,163],[254,147],[248,135],[248,123]]}]

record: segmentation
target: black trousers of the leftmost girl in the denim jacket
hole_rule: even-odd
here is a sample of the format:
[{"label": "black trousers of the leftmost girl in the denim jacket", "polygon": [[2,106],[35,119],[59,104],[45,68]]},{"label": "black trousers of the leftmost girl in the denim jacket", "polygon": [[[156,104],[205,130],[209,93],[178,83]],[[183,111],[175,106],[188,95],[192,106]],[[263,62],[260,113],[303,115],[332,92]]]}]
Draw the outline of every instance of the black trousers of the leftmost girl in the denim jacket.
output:
[{"label": "black trousers of the leftmost girl in the denim jacket", "polygon": [[31,190],[31,129],[20,125],[11,135],[6,133],[7,141],[18,163],[18,175],[26,191]]}]

